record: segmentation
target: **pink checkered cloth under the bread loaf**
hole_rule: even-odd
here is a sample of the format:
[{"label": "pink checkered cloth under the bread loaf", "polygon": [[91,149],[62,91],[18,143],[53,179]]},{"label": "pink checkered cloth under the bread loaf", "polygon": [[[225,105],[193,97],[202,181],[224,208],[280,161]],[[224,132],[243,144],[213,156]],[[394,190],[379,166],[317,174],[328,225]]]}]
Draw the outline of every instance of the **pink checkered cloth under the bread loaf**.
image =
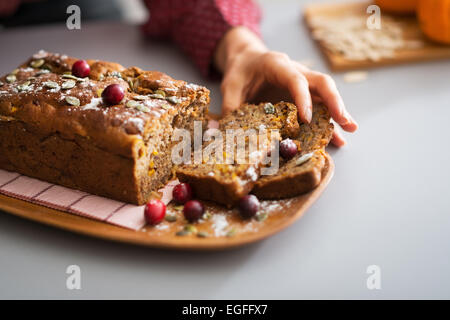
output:
[{"label": "pink checkered cloth under the bread loaf", "polygon": [[[177,183],[177,180],[171,181],[160,190],[166,204],[172,199],[172,189]],[[144,206],[99,197],[1,169],[0,193],[127,229],[139,230],[145,225]]]}]

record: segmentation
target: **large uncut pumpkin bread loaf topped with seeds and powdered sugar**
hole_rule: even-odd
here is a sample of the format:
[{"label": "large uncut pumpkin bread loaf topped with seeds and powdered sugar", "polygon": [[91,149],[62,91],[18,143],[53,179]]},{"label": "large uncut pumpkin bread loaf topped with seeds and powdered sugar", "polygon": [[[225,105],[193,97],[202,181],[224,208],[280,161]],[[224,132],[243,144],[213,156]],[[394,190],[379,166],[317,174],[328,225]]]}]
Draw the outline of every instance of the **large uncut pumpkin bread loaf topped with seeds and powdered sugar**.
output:
[{"label": "large uncut pumpkin bread loaf topped with seeds and powdered sugar", "polygon": [[[209,91],[157,71],[40,51],[0,78],[0,168],[144,204],[171,175],[171,136],[205,121]],[[106,105],[119,84],[125,97]]]}]

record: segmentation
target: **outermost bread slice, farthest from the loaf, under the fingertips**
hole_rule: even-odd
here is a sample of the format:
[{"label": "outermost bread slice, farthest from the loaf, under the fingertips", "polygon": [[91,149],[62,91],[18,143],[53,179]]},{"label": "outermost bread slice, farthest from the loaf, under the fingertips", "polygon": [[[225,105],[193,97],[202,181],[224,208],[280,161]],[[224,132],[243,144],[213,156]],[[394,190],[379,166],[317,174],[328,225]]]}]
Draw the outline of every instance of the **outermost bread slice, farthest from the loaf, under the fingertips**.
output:
[{"label": "outermost bread slice, farthest from the loaf, under the fingertips", "polygon": [[252,190],[260,199],[283,199],[314,189],[322,179],[325,167],[325,147],[333,135],[328,109],[313,107],[312,120],[300,125],[296,143],[300,152],[288,161],[280,159],[280,169],[274,175],[262,176]]}]

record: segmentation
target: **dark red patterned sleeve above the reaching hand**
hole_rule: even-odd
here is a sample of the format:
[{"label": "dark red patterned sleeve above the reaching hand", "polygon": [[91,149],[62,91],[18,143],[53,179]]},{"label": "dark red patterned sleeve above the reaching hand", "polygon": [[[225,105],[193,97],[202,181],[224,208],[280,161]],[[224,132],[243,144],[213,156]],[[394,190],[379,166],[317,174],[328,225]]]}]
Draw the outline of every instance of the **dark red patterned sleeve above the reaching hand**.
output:
[{"label": "dark red patterned sleeve above the reaching hand", "polygon": [[150,18],[142,26],[153,38],[169,38],[186,52],[203,75],[211,72],[216,46],[232,27],[260,35],[261,11],[252,0],[144,0]]}]

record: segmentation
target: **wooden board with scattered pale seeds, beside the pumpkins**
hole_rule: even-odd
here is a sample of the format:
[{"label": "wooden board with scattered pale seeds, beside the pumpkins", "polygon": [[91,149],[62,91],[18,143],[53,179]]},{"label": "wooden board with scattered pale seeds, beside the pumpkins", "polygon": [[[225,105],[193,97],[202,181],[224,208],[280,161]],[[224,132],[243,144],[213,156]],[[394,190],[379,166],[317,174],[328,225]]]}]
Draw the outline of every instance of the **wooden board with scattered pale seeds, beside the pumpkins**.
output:
[{"label": "wooden board with scattered pale seeds, beside the pumpkins", "polygon": [[[323,17],[344,17],[350,12],[355,12],[361,16],[369,17],[366,13],[367,7],[371,2],[353,2],[353,3],[328,3],[312,4],[304,9],[304,19],[312,30],[310,20],[317,16]],[[382,12],[381,19],[384,13]],[[392,16],[391,16],[392,17]],[[355,69],[366,69],[387,65],[396,65],[407,62],[449,59],[450,46],[439,45],[428,41],[423,36],[417,18],[415,16],[395,16],[395,19],[404,24],[404,38],[408,40],[423,40],[423,47],[397,50],[393,57],[381,58],[378,61],[362,60],[354,61],[343,58],[341,55],[333,53],[325,48],[320,42],[319,47],[324,54],[327,62],[333,71],[346,71]]]}]

